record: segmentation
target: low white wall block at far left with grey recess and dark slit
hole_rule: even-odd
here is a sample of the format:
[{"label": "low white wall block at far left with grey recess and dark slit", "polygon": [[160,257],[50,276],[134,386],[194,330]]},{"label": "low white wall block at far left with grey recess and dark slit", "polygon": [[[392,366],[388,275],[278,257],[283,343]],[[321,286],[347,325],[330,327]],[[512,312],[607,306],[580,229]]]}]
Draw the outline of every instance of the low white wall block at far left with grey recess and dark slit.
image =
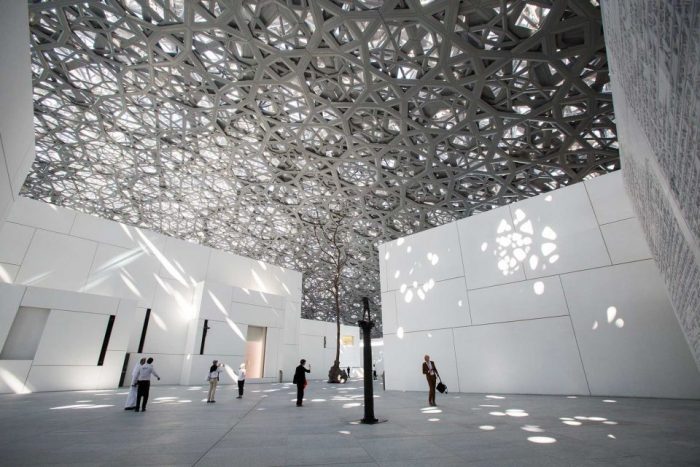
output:
[{"label": "low white wall block at far left with grey recess and dark slit", "polygon": [[[33,358],[0,360],[0,393],[117,386],[134,300],[0,284],[0,303],[0,322],[8,330],[17,313],[22,313],[20,307],[48,313]],[[98,366],[109,315],[115,316],[115,322],[104,363]],[[7,337],[0,335],[0,348]]]}]

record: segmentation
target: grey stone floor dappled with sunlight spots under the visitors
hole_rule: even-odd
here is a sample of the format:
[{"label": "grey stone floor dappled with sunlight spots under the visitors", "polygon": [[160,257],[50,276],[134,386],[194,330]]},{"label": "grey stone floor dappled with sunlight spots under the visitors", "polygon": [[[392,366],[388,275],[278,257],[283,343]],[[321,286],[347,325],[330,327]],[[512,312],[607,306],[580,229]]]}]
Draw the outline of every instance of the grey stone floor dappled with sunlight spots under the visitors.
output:
[{"label": "grey stone floor dappled with sunlight spots under the visitors", "polygon": [[0,396],[0,465],[700,465],[700,401],[438,395],[375,389],[387,423],[359,425],[360,381],[294,387],[154,387],[146,413],[125,390]]}]

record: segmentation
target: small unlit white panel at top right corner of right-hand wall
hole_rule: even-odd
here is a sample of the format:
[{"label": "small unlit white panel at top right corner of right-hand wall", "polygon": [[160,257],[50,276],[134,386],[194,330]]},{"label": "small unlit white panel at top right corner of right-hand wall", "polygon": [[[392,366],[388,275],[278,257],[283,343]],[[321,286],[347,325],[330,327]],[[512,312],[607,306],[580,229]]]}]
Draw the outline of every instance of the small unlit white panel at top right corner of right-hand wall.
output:
[{"label": "small unlit white panel at top right corner of right-hand wall", "polygon": [[584,182],[599,224],[634,217],[634,209],[622,182],[622,171]]}]

